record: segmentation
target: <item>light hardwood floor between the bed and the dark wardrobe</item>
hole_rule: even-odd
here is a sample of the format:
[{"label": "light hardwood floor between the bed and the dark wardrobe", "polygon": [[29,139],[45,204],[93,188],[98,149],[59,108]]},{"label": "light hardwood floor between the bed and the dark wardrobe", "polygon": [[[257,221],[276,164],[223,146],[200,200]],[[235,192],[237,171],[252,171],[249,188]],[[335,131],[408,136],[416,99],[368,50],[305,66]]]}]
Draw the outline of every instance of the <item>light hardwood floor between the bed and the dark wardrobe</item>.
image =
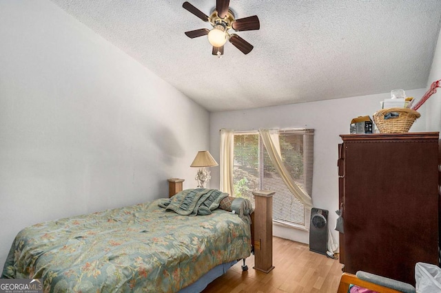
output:
[{"label": "light hardwood floor between the bed and the dark wardrobe", "polygon": [[220,292],[337,292],[342,275],[338,259],[309,251],[307,244],[273,237],[274,270],[268,274],[254,270],[254,255],[236,263],[223,276],[210,283],[204,293]]}]

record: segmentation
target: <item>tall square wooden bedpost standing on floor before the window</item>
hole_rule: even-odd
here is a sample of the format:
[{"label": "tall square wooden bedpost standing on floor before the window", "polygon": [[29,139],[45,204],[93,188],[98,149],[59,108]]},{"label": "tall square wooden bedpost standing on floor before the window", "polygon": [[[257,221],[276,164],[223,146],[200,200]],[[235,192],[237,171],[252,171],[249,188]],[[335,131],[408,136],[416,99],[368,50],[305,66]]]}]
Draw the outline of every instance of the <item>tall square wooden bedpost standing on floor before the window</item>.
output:
[{"label": "tall square wooden bedpost standing on floor before the window", "polygon": [[274,191],[254,191],[254,269],[268,273],[273,265]]}]

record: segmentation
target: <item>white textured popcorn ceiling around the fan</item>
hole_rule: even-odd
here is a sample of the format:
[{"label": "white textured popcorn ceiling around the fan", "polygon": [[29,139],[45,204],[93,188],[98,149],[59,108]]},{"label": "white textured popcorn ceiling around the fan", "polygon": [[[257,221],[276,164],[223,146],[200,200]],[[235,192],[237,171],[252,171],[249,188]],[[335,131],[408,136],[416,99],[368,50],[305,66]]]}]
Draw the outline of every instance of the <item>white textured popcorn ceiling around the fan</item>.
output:
[{"label": "white textured popcorn ceiling around the fan", "polygon": [[206,36],[185,36],[211,27],[184,1],[51,1],[209,111],[425,88],[441,20],[441,0],[230,0],[260,30],[236,32],[249,54],[227,43],[216,58]]}]

